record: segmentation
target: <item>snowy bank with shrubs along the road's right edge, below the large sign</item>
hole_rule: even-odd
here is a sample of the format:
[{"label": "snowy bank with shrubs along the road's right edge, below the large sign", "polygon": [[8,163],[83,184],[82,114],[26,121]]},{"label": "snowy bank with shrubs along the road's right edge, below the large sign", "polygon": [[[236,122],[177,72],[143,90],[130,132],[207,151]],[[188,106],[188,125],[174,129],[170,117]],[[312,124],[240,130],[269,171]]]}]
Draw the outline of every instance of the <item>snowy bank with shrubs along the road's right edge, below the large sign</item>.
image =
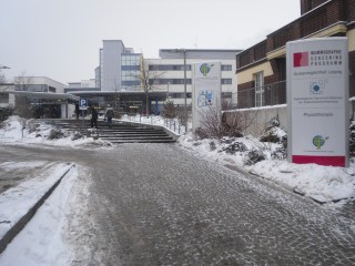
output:
[{"label": "snowy bank with shrubs along the road's right edge, below the large sign", "polygon": [[253,136],[197,140],[192,133],[189,133],[181,136],[179,142],[209,160],[236,165],[253,175],[320,203],[339,202],[355,197],[353,163],[348,168],[288,163],[284,143],[285,132],[277,126],[272,126],[268,129],[268,133],[277,136],[275,139],[280,141],[276,143],[261,142]]}]

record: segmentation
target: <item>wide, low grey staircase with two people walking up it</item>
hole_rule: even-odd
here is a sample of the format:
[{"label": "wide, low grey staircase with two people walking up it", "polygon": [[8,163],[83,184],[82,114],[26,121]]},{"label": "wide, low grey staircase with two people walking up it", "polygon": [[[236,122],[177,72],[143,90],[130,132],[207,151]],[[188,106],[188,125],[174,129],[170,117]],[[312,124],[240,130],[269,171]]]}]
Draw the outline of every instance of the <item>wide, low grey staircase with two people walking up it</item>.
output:
[{"label": "wide, low grey staircase with two people walking up it", "polygon": [[[47,121],[47,123],[49,123]],[[60,129],[80,132],[81,134],[109,141],[111,143],[172,143],[178,136],[162,126],[113,121],[109,127],[106,122],[98,121],[98,129],[90,127],[90,121],[51,120]]]}]

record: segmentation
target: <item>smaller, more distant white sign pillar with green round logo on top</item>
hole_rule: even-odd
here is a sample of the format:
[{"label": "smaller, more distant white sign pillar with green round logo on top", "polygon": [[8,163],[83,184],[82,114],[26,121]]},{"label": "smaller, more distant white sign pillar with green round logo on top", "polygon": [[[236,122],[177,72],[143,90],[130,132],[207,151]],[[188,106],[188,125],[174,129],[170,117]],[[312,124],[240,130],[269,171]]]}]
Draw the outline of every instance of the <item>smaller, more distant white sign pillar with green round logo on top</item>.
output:
[{"label": "smaller, more distant white sign pillar with green round logo on top", "polygon": [[[221,63],[203,62],[193,64],[192,76],[192,129],[203,126],[209,115],[222,115]],[[221,122],[221,121],[220,121]]]}]

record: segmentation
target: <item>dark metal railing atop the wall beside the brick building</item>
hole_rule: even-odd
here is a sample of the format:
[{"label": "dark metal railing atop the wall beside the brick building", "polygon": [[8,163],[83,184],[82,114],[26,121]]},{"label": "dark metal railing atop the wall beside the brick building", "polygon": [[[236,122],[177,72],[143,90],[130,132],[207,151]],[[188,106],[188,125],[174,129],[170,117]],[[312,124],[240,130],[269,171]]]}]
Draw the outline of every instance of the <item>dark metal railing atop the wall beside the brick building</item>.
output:
[{"label": "dark metal railing atop the wall beside the brick building", "polygon": [[239,91],[237,102],[239,109],[284,104],[286,103],[286,81]]}]

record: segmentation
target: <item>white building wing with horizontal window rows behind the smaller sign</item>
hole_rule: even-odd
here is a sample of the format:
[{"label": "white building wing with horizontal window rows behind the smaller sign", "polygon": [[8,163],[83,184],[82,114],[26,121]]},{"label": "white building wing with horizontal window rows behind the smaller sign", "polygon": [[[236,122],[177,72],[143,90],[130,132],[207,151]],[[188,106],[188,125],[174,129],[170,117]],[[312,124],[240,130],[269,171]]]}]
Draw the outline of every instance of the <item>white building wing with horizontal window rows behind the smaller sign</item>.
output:
[{"label": "white building wing with horizontal window rows behind the smaller sign", "polygon": [[[146,59],[153,76],[154,89],[166,91],[166,96],[175,105],[192,103],[192,64],[201,62],[221,62],[222,100],[236,104],[235,54],[240,50],[202,50],[202,49],[162,49],[160,59]],[[186,68],[186,71],[184,71]],[[186,82],[186,85],[185,85]],[[186,86],[186,89],[185,89]]]}]

